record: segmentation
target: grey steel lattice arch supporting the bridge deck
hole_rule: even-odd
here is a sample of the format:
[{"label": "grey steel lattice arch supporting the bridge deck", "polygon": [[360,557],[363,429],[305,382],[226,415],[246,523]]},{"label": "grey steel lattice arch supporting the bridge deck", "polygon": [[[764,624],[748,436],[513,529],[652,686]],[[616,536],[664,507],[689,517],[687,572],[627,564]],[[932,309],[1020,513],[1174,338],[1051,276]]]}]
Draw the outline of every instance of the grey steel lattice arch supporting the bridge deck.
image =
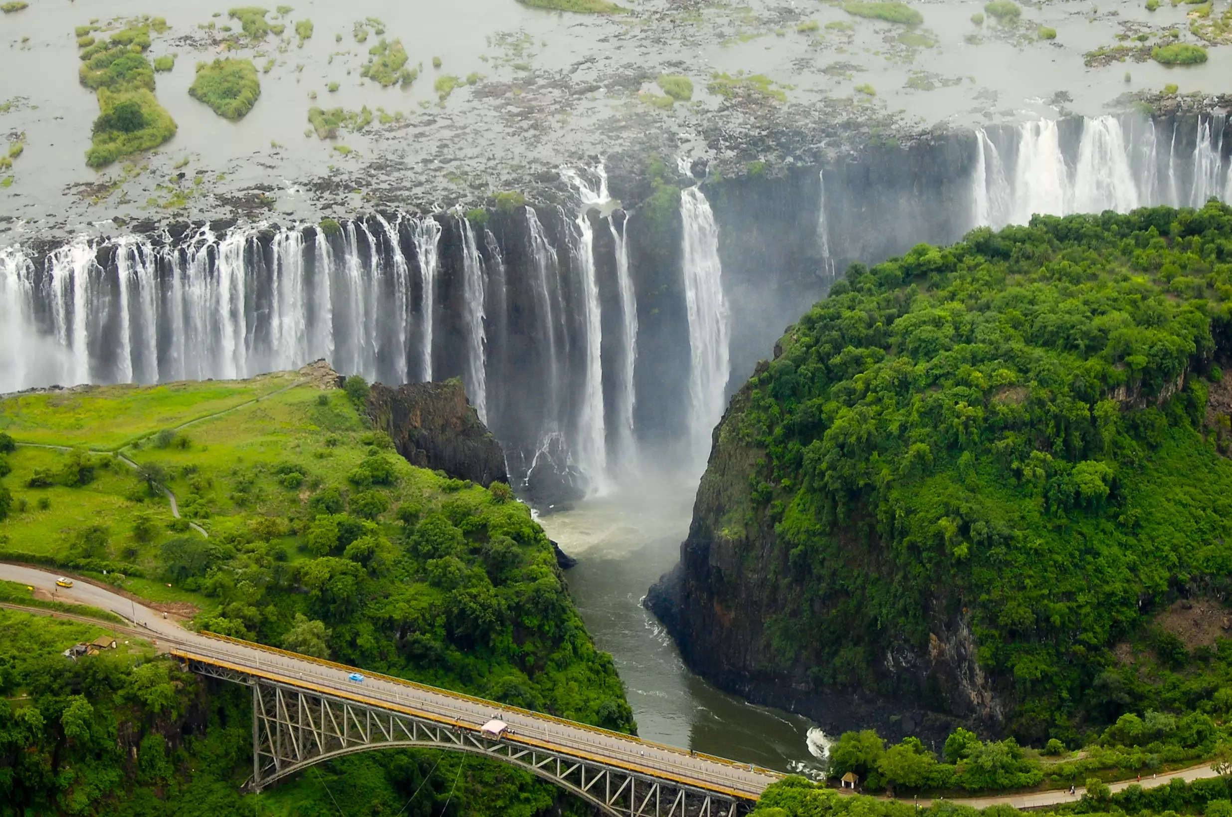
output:
[{"label": "grey steel lattice arch supporting the bridge deck", "polygon": [[740,817],[754,802],[653,776],[600,757],[536,746],[520,736],[493,737],[469,726],[304,689],[234,667],[186,657],[193,673],[253,690],[253,776],[260,791],[314,763],[383,748],[464,752],[525,769],[590,802],[611,817]]}]

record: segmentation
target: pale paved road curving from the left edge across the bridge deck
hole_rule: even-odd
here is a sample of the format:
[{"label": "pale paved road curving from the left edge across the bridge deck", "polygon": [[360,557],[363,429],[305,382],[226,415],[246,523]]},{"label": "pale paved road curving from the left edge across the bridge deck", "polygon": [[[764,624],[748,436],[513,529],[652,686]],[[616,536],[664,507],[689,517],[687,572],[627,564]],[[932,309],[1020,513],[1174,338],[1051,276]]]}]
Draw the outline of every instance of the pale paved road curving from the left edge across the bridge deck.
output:
[{"label": "pale paved road curving from the left edge across the bridge deck", "polygon": [[446,690],[399,684],[381,678],[367,678],[363,683],[355,683],[347,679],[349,668],[329,667],[310,659],[202,636],[182,628],[174,620],[163,619],[160,612],[94,584],[78,582],[71,588],[57,590],[55,577],[55,573],[47,571],[0,564],[0,579],[23,582],[48,591],[55,590],[57,599],[65,603],[89,604],[136,621],[149,633],[148,637],[160,651],[176,649],[206,659],[223,661],[278,677],[291,684],[297,680],[310,681],[349,695],[362,695],[377,702],[395,704],[474,728],[499,716],[513,728],[515,742],[519,737],[525,737],[567,753],[598,755],[650,776],[670,776],[701,789],[728,791],[755,799],[766,786],[782,776],[719,758],[691,755],[684,749],[648,743],[582,723],[501,710],[500,704],[480,702]]}]

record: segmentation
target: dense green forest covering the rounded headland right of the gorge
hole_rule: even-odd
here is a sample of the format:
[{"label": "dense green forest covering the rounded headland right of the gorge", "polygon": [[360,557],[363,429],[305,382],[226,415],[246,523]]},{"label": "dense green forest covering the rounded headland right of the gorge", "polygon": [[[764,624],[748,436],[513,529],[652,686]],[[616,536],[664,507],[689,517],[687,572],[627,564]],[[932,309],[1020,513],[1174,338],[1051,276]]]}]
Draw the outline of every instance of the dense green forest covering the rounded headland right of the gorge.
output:
[{"label": "dense green forest covering the rounded headland right of the gorge", "polygon": [[1232,695],[1230,325],[1217,202],[853,265],[719,431],[755,452],[715,529],[770,542],[743,552],[777,566],[771,663],[944,709],[885,657],[958,622],[1024,742],[1148,711],[1207,741]]}]

